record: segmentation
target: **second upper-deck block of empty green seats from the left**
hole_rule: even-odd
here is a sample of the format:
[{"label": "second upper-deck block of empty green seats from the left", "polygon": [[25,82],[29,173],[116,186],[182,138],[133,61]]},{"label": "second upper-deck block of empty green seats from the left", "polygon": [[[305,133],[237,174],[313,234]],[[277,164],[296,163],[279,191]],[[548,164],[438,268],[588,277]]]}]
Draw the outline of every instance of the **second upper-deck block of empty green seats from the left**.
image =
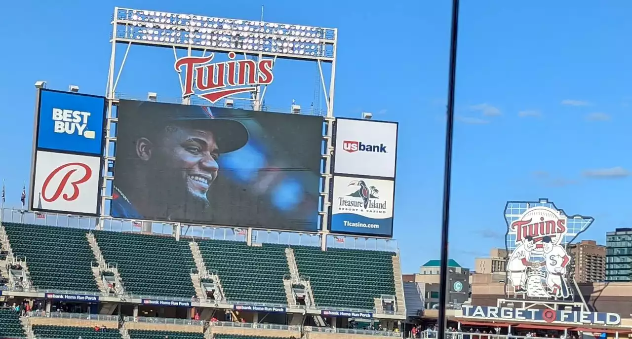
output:
[{"label": "second upper-deck block of empty green seats from the left", "polygon": [[159,235],[94,231],[107,263],[116,263],[126,292],[190,298],[195,261],[186,241]]}]

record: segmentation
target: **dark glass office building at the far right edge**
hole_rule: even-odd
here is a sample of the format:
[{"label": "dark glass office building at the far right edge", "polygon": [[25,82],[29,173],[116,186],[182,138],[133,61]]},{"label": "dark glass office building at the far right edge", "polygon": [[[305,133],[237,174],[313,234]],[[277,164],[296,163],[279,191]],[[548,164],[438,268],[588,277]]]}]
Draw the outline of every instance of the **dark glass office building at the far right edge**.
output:
[{"label": "dark glass office building at the far right edge", "polygon": [[616,229],[605,234],[605,280],[632,281],[632,229]]}]

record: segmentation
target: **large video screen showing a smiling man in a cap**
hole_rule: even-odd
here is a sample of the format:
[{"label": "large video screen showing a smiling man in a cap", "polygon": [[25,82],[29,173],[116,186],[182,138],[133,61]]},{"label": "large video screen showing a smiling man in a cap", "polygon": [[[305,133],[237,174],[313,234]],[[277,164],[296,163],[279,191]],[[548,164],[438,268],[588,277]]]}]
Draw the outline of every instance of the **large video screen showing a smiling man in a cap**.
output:
[{"label": "large video screen showing a smiling man in a cap", "polygon": [[323,119],[121,100],[111,215],[318,229]]}]

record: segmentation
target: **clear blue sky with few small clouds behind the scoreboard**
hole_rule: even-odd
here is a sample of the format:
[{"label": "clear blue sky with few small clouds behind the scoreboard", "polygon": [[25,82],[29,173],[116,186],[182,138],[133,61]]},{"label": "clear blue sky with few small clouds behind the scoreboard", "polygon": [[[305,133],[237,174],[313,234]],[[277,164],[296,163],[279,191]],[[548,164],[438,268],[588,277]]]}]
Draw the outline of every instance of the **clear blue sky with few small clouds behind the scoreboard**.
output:
[{"label": "clear blue sky with few small clouds behind the scoreboard", "polygon": [[[11,1],[0,22],[0,178],[28,180],[37,80],[105,91],[114,6],[339,28],[334,114],[399,121],[394,237],[403,271],[439,257],[450,1]],[[549,198],[592,215],[582,235],[632,226],[629,1],[463,1],[450,256],[504,246],[507,200]],[[122,53],[118,56],[120,60]],[[267,105],[308,107],[312,65],[279,63]],[[304,73],[300,73],[304,72]],[[178,95],[173,52],[130,51],[119,90]]]}]

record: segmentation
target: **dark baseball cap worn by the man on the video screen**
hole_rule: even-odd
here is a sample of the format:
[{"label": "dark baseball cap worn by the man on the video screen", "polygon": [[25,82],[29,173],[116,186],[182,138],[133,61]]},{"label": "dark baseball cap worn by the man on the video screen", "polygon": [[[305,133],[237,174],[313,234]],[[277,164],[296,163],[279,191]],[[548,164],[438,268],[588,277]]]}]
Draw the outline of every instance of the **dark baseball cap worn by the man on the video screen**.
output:
[{"label": "dark baseball cap worn by the man on the video screen", "polygon": [[[130,105],[130,103],[133,104]],[[125,112],[128,109],[130,111]],[[244,124],[238,120],[214,116],[212,107],[121,100],[119,110],[121,110],[119,116],[123,113],[125,116],[129,114],[134,117],[135,126],[127,126],[127,128],[135,129],[135,134],[174,123],[211,131],[220,153],[239,150],[248,142],[248,129]],[[119,118],[119,122],[121,120],[123,119]],[[126,119],[123,120],[125,121]]]}]

